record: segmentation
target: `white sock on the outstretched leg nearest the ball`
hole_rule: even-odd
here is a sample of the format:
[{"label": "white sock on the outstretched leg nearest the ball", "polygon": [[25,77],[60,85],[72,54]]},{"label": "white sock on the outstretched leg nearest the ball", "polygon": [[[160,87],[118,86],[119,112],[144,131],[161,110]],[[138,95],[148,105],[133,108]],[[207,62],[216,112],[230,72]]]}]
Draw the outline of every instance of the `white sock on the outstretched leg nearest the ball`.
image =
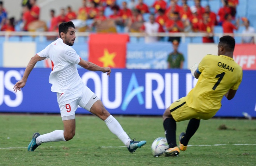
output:
[{"label": "white sock on the outstretched leg nearest the ball", "polygon": [[126,134],[122,126],[112,115],[107,117],[104,122],[107,124],[109,130],[115,134],[126,145],[126,147],[130,146],[130,137]]}]

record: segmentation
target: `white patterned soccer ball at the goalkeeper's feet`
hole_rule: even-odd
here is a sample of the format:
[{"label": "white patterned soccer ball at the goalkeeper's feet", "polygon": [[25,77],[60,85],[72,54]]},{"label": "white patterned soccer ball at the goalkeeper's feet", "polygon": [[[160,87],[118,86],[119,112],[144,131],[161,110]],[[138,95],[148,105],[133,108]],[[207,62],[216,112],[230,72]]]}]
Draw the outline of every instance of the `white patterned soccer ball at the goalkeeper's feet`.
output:
[{"label": "white patterned soccer ball at the goalkeeper's feet", "polygon": [[151,145],[151,151],[154,157],[160,156],[168,148],[169,148],[169,145],[165,137],[156,138],[153,144]]}]

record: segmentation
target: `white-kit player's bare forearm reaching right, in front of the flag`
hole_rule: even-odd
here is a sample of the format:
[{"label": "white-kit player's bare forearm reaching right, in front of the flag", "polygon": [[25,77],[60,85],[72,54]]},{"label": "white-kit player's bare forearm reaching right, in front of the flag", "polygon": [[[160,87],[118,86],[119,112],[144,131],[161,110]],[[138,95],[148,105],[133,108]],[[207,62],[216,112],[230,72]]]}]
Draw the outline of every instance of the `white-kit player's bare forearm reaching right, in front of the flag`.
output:
[{"label": "white-kit player's bare forearm reaching right, in front of the flag", "polygon": [[103,73],[107,73],[107,75],[110,76],[110,73],[111,73],[111,69],[110,67],[100,67],[92,62],[87,62],[83,59],[80,60],[80,62],[78,63],[79,66],[87,69],[87,70],[90,70],[90,71],[101,71]]}]

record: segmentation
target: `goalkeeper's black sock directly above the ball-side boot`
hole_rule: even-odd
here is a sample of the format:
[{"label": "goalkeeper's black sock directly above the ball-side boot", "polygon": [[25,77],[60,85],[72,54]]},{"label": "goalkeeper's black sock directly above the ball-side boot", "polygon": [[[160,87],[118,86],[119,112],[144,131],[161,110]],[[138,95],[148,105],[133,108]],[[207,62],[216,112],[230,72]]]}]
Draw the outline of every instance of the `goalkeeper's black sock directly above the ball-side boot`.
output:
[{"label": "goalkeeper's black sock directly above the ball-side boot", "polygon": [[165,119],[164,130],[169,148],[176,147],[176,121],[173,118]]}]

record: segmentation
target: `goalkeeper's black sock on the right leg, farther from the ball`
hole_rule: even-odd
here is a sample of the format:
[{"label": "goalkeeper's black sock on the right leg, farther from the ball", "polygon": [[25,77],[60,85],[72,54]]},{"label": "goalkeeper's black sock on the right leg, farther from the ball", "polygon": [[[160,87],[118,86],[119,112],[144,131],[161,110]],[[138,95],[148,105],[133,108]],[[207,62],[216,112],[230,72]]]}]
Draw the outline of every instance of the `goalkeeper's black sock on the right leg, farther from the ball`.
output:
[{"label": "goalkeeper's black sock on the right leg, farther from the ball", "polygon": [[180,143],[184,146],[189,144],[190,138],[194,135],[195,131],[199,128],[200,119],[190,119],[189,124],[187,126],[185,137],[180,140]]}]

